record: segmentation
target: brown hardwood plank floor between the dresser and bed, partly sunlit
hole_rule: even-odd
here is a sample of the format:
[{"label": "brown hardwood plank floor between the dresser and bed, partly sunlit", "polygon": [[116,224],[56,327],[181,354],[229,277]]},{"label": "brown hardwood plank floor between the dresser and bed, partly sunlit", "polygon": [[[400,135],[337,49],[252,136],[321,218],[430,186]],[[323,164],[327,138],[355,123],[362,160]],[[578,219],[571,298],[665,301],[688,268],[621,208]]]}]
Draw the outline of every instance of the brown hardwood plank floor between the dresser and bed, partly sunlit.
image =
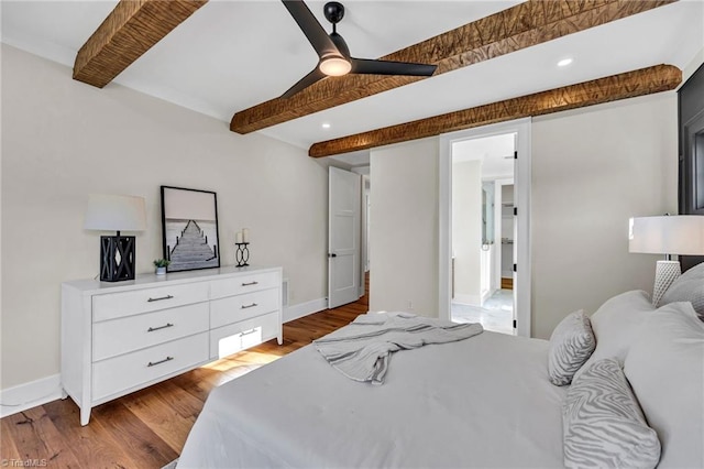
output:
[{"label": "brown hardwood plank floor between the dresser and bed, partly sunlit", "polygon": [[366,298],[284,324],[282,346],[271,340],[102,404],[85,427],[70,399],[2,418],[0,463],[162,468],[180,454],[210,390],[349,324],[367,312]]}]

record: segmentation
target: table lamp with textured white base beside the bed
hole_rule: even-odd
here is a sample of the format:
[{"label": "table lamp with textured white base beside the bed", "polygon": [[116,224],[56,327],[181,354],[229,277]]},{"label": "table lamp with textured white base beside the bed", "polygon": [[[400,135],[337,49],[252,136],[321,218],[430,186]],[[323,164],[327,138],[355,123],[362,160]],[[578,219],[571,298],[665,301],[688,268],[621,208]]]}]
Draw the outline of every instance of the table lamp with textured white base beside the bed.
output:
[{"label": "table lamp with textured white base beside the bed", "polygon": [[664,292],[682,273],[680,261],[672,254],[704,254],[704,217],[696,215],[666,215],[631,218],[628,251],[644,254],[666,254],[656,266],[652,304],[658,305]]}]

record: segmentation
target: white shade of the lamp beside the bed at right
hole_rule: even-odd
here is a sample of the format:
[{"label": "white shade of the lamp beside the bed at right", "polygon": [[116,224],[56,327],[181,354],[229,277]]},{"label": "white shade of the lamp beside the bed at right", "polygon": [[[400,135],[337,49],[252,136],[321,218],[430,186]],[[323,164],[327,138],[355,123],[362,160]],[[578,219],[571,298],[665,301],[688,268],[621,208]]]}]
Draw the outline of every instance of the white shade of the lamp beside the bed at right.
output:
[{"label": "white shade of the lamp beside the bed at right", "polygon": [[704,254],[704,217],[671,215],[631,218],[628,251],[645,254]]}]

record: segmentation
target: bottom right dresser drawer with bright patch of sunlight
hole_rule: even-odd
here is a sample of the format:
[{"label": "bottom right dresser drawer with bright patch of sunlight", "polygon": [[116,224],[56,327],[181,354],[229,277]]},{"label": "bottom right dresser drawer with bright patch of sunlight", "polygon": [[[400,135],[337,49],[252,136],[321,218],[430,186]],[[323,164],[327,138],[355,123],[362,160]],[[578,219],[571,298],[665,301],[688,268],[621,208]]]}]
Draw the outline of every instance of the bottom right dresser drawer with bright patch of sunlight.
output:
[{"label": "bottom right dresser drawer with bright patch of sunlight", "polygon": [[210,358],[227,357],[273,339],[279,332],[278,312],[210,330]]}]

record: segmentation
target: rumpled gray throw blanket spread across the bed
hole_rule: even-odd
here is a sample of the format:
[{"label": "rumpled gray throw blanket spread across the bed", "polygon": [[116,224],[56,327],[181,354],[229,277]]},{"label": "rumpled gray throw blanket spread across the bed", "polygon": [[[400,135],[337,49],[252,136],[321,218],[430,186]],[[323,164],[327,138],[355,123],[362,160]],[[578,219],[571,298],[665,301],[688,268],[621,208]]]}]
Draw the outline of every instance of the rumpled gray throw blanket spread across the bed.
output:
[{"label": "rumpled gray throw blanket spread across the bed", "polygon": [[371,313],[314,343],[345,377],[383,384],[393,352],[468,339],[483,330],[481,324],[455,324],[408,313]]}]

